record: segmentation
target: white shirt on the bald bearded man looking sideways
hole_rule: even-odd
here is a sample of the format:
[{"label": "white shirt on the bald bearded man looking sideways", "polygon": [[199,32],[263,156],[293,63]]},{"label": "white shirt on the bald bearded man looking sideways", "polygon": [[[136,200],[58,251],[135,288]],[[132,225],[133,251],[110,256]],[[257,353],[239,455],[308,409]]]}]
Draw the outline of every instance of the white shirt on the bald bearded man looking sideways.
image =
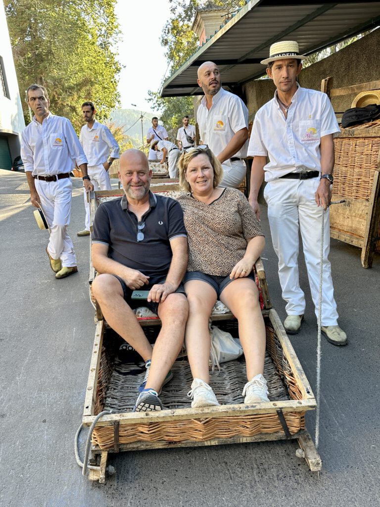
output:
[{"label": "white shirt on the bald bearded man looking sideways", "polygon": [[[202,141],[217,156],[231,141],[234,134],[243,128],[248,128],[248,109],[243,100],[220,88],[212,98],[210,110],[203,97],[197,112],[199,134]],[[245,158],[247,156],[248,140],[233,156]]]}]

